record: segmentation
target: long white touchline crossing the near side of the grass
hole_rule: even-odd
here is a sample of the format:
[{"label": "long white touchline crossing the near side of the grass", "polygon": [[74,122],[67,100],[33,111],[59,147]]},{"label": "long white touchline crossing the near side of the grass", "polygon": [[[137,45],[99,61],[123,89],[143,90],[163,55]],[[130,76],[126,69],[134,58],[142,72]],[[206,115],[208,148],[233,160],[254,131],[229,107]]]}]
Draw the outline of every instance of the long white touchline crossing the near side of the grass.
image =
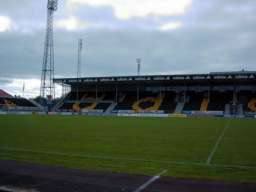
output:
[{"label": "long white touchline crossing the near side of the grass", "polygon": [[26,152],[35,152],[43,154],[58,154],[66,156],[76,156],[76,157],[95,157],[95,158],[104,158],[104,159],[119,159],[119,160],[131,160],[131,161],[149,161],[149,162],[159,162],[159,163],[177,163],[177,164],[190,164],[190,165],[200,165],[200,166],[221,166],[221,167],[242,167],[242,168],[253,168],[256,169],[256,166],[239,166],[239,165],[219,165],[219,164],[206,164],[206,163],[195,163],[195,162],[178,162],[178,161],[167,161],[167,160],[151,160],[151,159],[134,159],[134,158],[125,158],[125,157],[106,157],[98,155],[83,155],[83,154],[69,154],[69,153],[60,153],[60,152],[49,152],[49,151],[35,151],[35,150],[26,150],[26,149],[17,149],[17,148],[6,148],[0,147],[3,150],[13,150],[13,151],[26,151]]}]

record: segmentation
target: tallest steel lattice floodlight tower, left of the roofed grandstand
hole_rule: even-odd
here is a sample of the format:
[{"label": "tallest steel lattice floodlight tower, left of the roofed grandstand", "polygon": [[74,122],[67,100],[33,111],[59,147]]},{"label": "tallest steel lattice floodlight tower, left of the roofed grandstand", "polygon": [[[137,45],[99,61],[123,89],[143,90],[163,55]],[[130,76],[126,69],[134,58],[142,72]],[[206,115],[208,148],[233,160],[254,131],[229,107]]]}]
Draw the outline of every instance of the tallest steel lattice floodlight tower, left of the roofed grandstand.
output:
[{"label": "tallest steel lattice floodlight tower, left of the roofed grandstand", "polygon": [[44,97],[52,95],[55,99],[54,60],[53,60],[53,12],[57,11],[58,0],[47,2],[47,28],[44,43],[44,59],[41,77],[40,103],[44,104]]}]

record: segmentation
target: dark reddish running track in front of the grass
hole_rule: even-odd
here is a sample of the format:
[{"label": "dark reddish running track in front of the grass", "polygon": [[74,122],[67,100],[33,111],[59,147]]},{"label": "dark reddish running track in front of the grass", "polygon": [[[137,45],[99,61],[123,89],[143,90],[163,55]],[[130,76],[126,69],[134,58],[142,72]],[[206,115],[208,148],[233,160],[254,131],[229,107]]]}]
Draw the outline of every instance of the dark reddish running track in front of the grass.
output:
[{"label": "dark reddish running track in front of the grass", "polygon": [[[0,186],[40,192],[133,192],[153,176],[100,172],[0,160]],[[157,177],[143,192],[255,192],[256,183]]]}]

